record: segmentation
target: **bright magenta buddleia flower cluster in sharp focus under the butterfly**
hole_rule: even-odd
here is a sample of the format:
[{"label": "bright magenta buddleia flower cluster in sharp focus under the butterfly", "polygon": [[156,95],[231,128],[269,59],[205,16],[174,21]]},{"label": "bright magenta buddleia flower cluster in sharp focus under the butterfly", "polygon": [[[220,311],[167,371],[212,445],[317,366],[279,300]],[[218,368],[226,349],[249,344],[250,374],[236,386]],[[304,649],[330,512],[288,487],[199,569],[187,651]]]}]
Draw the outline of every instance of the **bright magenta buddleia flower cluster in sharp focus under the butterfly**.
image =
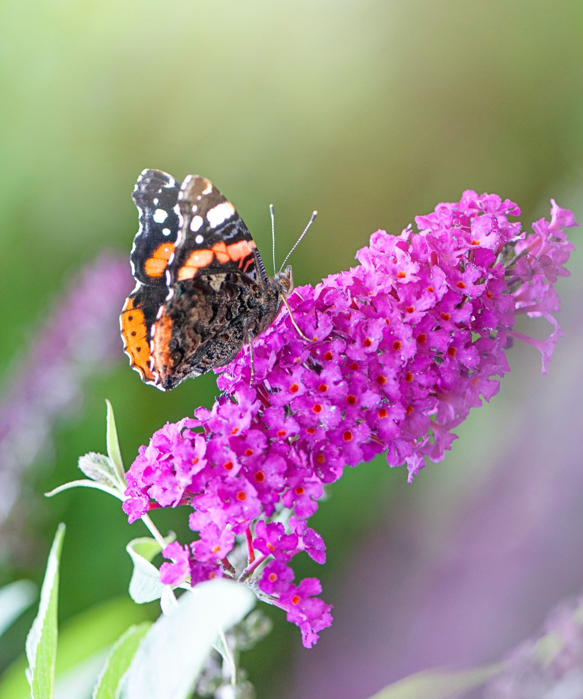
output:
[{"label": "bright magenta buddleia flower cluster in sharp focus under the butterfly", "polygon": [[[330,606],[316,597],[317,579],[294,586],[286,563],[300,551],[325,560],[305,522],[323,484],[381,452],[389,466],[407,463],[409,480],[426,456],[442,459],[452,428],[498,391],[492,377],[509,370],[510,338],[538,347],[546,371],[561,334],[553,284],[568,274],[573,250],[561,229],[577,224],[554,201],[551,222],[535,222],[529,236],[509,215],[519,215],[511,201],[468,191],[416,217],[419,233],[377,231],[359,266],[290,296],[309,341],[280,315],[253,343],[252,388],[246,347],[220,373],[212,410],[167,424],[141,447],[127,474],[129,520],[188,504],[199,533],[165,550],[173,562],[162,568],[164,582],[232,574],[227,556],[235,535],[245,535],[240,579],[258,575],[258,589],[300,626],[304,645],[317,640]],[[521,313],[547,318],[552,335],[543,342],[512,331]],[[273,521],[283,509],[293,512],[287,528]]]}]

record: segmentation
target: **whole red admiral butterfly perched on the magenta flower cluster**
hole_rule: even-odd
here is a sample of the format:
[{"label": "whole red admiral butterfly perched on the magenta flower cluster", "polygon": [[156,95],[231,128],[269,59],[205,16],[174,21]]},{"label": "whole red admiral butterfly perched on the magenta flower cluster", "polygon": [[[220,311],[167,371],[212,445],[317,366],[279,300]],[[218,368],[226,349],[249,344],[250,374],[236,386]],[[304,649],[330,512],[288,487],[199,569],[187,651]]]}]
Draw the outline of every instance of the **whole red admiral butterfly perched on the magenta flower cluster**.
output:
[{"label": "whole red admiral butterfly perched on the magenta flower cluster", "polygon": [[132,199],[140,225],[130,257],[136,287],[120,316],[124,352],[143,382],[166,391],[230,363],[265,331],[288,305],[292,268],[267,276],[247,226],[206,178],[181,184],[144,170]]}]

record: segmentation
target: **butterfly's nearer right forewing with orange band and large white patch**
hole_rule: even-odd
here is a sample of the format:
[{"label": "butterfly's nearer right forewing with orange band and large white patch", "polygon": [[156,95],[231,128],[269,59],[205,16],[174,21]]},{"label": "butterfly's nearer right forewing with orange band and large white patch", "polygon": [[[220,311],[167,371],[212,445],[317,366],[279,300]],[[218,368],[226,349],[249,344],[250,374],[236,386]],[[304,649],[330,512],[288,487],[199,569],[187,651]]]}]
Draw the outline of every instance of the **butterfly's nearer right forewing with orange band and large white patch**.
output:
[{"label": "butterfly's nearer right forewing with orange band and large white patch", "polygon": [[265,267],[243,219],[210,180],[188,175],[178,194],[180,232],[167,284],[204,273],[244,273],[267,288]]}]

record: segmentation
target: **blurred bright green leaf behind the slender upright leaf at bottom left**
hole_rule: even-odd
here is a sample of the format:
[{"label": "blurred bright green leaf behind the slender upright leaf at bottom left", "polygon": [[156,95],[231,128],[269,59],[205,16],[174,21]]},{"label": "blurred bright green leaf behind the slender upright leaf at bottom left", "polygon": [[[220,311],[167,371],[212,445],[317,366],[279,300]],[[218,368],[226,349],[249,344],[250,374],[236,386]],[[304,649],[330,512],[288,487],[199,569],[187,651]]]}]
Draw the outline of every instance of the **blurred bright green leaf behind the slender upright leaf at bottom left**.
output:
[{"label": "blurred bright green leaf behind the slender upright leaf at bottom left", "polygon": [[[59,626],[59,647],[55,668],[55,696],[62,686],[71,686],[71,678],[86,675],[88,687],[84,699],[91,696],[99,672],[113,643],[128,626],[149,619],[155,609],[136,605],[127,595],[108,600]],[[30,687],[24,674],[26,657],[21,656],[0,679],[0,699],[30,699]],[[93,674],[91,674],[93,673]]]}]

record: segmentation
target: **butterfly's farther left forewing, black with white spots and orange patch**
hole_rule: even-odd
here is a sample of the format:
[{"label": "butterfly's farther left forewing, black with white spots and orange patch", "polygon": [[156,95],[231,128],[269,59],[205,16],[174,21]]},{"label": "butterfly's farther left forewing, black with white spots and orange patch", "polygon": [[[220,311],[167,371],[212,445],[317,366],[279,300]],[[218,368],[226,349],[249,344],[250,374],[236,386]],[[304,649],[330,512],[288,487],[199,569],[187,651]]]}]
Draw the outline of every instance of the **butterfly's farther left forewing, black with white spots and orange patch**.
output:
[{"label": "butterfly's farther left forewing, black with white spots and orange patch", "polygon": [[181,183],[161,170],[144,170],[132,199],[139,210],[132,274],[138,282],[166,286],[166,268],[178,237],[178,192]]}]

